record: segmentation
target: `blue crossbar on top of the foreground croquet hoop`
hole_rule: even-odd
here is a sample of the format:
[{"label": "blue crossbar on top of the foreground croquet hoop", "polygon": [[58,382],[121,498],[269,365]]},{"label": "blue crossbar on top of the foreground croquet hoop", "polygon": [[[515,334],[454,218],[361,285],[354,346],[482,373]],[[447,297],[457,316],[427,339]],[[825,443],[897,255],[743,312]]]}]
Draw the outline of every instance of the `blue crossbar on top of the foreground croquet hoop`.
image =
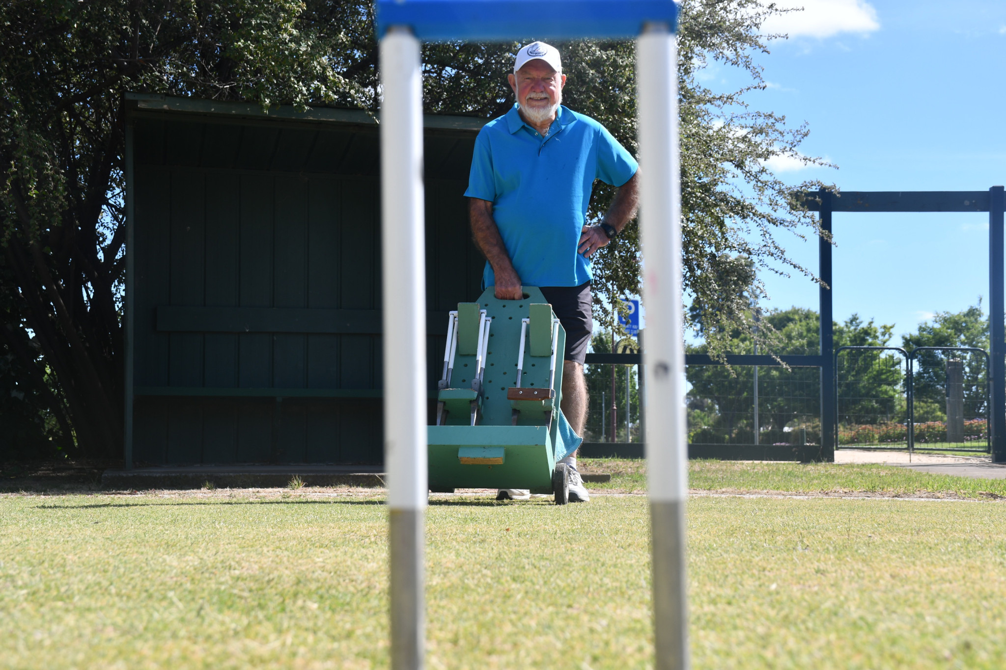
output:
[{"label": "blue crossbar on top of the foreground croquet hoop", "polygon": [[673,0],[377,0],[376,11],[378,38],[402,25],[428,41],[633,38],[678,19]]}]

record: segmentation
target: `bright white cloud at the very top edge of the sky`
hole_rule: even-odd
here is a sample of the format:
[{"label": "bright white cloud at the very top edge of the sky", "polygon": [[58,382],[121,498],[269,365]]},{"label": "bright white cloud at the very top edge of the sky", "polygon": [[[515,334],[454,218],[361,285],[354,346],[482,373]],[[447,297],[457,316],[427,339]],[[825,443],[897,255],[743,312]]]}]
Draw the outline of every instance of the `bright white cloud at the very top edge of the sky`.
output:
[{"label": "bright white cloud at the very top edge of the sky", "polygon": [[866,0],[777,0],[776,4],[784,9],[803,7],[803,10],[769,18],[762,32],[821,38],[880,28],[877,11]]}]

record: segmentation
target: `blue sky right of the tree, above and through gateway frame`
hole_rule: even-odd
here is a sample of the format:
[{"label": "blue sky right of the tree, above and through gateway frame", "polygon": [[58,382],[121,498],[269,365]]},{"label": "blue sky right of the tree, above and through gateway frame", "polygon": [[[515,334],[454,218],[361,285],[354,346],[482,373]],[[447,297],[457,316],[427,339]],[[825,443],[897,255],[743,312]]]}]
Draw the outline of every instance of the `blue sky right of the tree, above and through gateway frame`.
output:
[{"label": "blue sky right of the tree, above and through gateway frame", "polygon": [[[758,108],[810,125],[802,153],[838,170],[771,164],[783,179],[848,191],[985,190],[1006,183],[1006,1],[784,0],[803,6],[760,57]],[[741,81],[712,68],[708,83]],[[853,312],[914,330],[938,311],[988,300],[987,214],[835,214],[835,318]],[[780,237],[817,269],[817,241]],[[771,299],[817,308],[808,279],[764,274]],[[899,338],[897,338],[899,340]]]}]

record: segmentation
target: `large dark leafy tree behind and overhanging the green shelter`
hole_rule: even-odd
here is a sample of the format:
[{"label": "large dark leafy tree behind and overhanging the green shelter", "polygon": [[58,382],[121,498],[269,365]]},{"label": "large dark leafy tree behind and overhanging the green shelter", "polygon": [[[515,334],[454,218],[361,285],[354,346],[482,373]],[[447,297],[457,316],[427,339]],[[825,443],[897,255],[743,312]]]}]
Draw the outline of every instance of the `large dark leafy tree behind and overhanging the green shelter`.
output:
[{"label": "large dark leafy tree behind and overhanging the green shelter", "polygon": [[[804,127],[750,110],[764,87],[756,56],[772,11],[760,0],[686,0],[680,37],[685,285],[703,318],[747,323],[723,259],[760,266],[785,258],[778,230],[815,232],[792,213],[790,186],[765,162],[803,159]],[[350,106],[379,106],[372,5],[342,0],[8,0],[0,5],[0,356],[17,369],[15,391],[65,453],[115,456],[123,426],[126,91]],[[528,35],[531,39],[535,35]],[[512,104],[505,75],[519,46],[428,44],[431,113],[492,118]],[[635,152],[634,47],[560,45],[565,102],[605,124]],[[699,83],[710,63],[745,72],[747,86]],[[599,185],[591,218],[613,190]],[[802,227],[802,228],[801,228]],[[751,241],[756,240],[756,241]],[[605,299],[638,293],[635,224],[597,258]],[[724,279],[727,278],[727,279]],[[749,324],[748,324],[749,325]],[[715,349],[715,343],[711,345]],[[12,369],[14,369],[12,368]],[[31,412],[29,412],[31,414]]]}]

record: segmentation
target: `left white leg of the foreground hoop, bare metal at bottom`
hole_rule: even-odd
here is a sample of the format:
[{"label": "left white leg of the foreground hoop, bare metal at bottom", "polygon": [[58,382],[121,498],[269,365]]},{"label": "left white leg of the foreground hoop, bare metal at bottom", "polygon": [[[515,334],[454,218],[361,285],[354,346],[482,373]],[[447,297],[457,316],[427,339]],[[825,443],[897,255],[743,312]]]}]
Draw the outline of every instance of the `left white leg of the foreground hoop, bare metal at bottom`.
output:
[{"label": "left white leg of the foreground hoop, bare metal at bottom", "polygon": [[426,245],[420,40],[392,27],[380,40],[384,467],[390,552],[391,668],[425,665],[427,481]]}]

